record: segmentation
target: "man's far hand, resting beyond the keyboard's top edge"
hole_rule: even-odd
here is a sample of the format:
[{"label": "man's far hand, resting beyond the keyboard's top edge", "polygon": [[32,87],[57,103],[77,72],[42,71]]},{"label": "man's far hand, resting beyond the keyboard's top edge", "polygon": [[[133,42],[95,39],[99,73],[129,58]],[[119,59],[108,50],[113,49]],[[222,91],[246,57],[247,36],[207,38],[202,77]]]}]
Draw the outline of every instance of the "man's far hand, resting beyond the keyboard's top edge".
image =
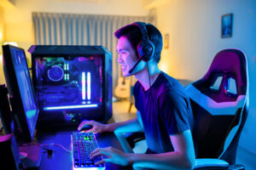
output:
[{"label": "man's far hand, resting beyond the keyboard's top edge", "polygon": [[92,127],[89,130],[86,130],[86,133],[102,133],[106,128],[105,124],[96,121],[83,121],[79,124],[78,130],[81,131],[84,126],[91,125]]}]

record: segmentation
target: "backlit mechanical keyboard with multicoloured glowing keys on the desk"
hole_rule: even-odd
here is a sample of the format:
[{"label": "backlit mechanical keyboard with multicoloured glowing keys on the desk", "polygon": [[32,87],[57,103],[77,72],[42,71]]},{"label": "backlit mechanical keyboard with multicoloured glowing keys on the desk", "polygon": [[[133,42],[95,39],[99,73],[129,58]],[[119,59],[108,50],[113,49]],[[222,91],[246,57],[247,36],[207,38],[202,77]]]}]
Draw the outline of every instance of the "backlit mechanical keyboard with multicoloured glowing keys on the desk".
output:
[{"label": "backlit mechanical keyboard with multicoloured glowing keys on the desk", "polygon": [[90,160],[90,152],[98,148],[94,133],[73,132],[71,135],[73,151],[73,169],[103,170],[105,165],[95,165],[94,162],[101,161],[102,156],[96,156]]}]

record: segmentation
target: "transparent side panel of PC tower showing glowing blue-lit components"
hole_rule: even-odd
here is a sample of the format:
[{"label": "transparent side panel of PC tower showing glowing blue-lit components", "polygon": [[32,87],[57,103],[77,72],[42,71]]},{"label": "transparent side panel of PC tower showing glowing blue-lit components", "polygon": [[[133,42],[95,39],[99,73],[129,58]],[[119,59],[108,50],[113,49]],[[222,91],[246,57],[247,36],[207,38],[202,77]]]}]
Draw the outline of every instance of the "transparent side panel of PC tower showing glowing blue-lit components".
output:
[{"label": "transparent side panel of PC tower showing glowing blue-lit components", "polygon": [[[36,57],[35,88],[40,108],[102,104],[100,55]],[[63,109],[63,108],[62,108]]]}]

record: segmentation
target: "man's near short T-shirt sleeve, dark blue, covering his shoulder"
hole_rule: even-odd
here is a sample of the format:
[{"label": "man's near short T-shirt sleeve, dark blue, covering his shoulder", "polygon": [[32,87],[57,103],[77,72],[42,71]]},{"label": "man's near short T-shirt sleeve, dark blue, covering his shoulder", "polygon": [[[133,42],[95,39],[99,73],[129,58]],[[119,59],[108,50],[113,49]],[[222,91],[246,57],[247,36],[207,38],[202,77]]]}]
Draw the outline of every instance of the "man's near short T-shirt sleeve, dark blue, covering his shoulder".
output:
[{"label": "man's near short T-shirt sleeve, dark blue, covering his shoulder", "polygon": [[189,101],[183,92],[169,90],[160,95],[160,118],[170,134],[180,133],[190,129]]}]

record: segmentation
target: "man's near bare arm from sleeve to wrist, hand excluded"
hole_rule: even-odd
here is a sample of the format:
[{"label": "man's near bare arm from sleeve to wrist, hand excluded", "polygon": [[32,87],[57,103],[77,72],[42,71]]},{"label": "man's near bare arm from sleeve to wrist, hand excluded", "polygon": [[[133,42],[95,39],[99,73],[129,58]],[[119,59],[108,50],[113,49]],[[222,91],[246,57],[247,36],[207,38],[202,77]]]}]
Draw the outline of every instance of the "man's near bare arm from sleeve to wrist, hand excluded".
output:
[{"label": "man's near bare arm from sleeve to wrist, hand excluded", "polygon": [[134,167],[154,169],[191,169],[195,164],[195,150],[190,130],[170,136],[172,152],[162,154],[129,154]]}]

